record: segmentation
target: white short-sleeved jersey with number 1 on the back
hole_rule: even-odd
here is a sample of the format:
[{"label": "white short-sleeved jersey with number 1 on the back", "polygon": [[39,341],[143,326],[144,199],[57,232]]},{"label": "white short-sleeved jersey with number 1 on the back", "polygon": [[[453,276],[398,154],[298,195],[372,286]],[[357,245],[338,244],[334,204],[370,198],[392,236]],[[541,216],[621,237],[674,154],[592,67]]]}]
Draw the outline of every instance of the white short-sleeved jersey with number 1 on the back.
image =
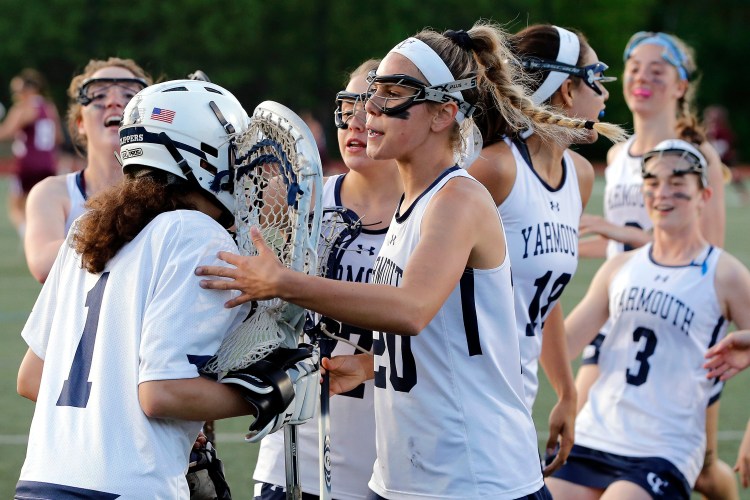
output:
[{"label": "white short-sleeved jersey with number 1 on the back", "polygon": [[207,215],[167,212],[91,274],[72,234],[22,332],[44,371],[19,496],[188,499],[201,422],[148,418],[138,385],[197,377],[244,317],[224,307],[236,293],[203,290],[194,274],[237,247]]}]

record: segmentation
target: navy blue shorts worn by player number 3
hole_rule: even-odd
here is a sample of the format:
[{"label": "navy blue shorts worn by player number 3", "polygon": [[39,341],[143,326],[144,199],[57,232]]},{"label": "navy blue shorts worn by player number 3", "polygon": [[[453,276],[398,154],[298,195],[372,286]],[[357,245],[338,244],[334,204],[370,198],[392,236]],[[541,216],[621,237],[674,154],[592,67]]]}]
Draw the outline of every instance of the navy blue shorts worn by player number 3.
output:
[{"label": "navy blue shorts worn by player number 3", "polygon": [[552,477],[606,489],[615,481],[635,483],[651,498],[690,499],[690,484],[668,460],[659,457],[625,457],[573,445],[565,462]]}]

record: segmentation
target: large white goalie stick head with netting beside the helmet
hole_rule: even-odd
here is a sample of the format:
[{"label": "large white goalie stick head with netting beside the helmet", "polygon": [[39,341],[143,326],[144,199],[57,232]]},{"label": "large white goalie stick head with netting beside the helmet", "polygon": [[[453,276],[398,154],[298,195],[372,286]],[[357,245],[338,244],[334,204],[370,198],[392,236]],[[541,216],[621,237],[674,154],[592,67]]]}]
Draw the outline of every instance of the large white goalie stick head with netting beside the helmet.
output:
[{"label": "large white goalie stick head with netting beside the helmet", "polygon": [[[285,106],[265,101],[255,108],[247,131],[237,137],[234,195],[237,246],[257,255],[250,228],[261,230],[281,263],[316,274],[320,234],[322,171],[312,132]],[[211,373],[245,368],[284,345],[296,348],[305,310],[281,299],[261,300],[227,335],[204,368]]]}]

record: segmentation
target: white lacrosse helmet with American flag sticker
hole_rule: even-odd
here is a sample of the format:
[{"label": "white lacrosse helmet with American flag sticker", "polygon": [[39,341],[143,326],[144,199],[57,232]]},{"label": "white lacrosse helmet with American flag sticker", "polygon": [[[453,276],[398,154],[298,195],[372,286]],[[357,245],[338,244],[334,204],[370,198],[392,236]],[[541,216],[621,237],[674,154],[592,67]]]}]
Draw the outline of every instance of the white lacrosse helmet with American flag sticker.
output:
[{"label": "white lacrosse helmet with American flag sticker", "polygon": [[234,138],[249,120],[240,102],[215,83],[173,80],[146,87],[123,112],[123,171],[147,166],[197,182],[233,214]]}]

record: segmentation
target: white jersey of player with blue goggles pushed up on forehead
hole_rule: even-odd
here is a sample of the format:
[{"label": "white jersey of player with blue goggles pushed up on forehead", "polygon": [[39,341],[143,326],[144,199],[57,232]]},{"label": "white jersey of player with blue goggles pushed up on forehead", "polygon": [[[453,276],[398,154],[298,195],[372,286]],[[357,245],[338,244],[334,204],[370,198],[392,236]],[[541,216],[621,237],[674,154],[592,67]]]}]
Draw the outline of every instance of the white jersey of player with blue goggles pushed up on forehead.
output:
[{"label": "white jersey of player with blue goggles pushed up on forehead", "polygon": [[[634,140],[633,135],[604,170],[604,218],[618,226],[633,226],[648,231],[653,224],[648,218],[641,193],[641,157],[630,154]],[[632,248],[619,241],[609,240],[607,258],[626,250]]]}]

